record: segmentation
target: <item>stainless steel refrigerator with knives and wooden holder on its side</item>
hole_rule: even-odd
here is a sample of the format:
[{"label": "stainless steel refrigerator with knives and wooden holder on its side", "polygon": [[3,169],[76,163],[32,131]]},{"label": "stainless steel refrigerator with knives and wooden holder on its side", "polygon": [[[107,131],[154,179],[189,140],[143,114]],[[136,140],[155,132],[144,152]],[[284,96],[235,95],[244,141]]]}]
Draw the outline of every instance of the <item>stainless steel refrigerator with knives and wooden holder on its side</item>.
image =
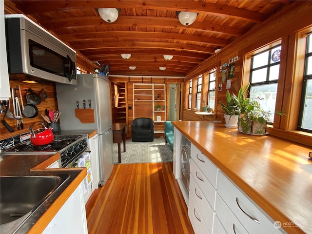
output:
[{"label": "stainless steel refrigerator with knives and wooden holder on its side", "polygon": [[[66,130],[93,130],[98,131],[98,155],[100,185],[104,185],[114,167],[113,157],[113,129],[110,96],[110,82],[98,74],[81,74],[77,76],[77,85],[57,84],[57,99],[60,128]],[[75,116],[75,109],[94,109],[92,123],[81,123]]]}]

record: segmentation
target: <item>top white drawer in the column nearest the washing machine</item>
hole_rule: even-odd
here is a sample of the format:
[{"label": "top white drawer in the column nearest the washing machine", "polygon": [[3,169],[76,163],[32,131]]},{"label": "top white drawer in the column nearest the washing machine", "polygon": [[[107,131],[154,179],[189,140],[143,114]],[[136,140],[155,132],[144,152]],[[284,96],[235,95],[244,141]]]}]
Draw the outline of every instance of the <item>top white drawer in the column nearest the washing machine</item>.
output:
[{"label": "top white drawer in the column nearest the washing machine", "polygon": [[194,160],[196,165],[209,179],[210,183],[216,188],[216,177],[218,168],[215,166],[208,157],[198,150],[194,144],[191,146],[191,158]]}]

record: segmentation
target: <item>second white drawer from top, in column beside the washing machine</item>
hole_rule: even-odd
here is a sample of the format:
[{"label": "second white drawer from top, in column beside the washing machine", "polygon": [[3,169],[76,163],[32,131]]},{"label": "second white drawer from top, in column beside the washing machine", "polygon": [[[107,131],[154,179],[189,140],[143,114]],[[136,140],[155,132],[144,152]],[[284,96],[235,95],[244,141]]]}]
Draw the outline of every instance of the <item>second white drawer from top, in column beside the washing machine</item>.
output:
[{"label": "second white drawer from top, in column beside the washing machine", "polygon": [[190,162],[190,172],[199,189],[201,190],[202,194],[206,197],[209,204],[215,211],[215,194],[216,194],[215,188],[209,182],[208,178],[204,175],[204,173],[196,165],[193,158],[191,158]]}]

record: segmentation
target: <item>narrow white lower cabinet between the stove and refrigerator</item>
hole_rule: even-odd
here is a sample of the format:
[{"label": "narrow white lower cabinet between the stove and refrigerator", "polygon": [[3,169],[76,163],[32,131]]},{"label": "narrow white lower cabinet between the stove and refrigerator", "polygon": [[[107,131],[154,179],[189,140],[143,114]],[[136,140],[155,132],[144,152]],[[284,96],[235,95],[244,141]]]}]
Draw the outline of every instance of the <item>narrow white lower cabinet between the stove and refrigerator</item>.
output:
[{"label": "narrow white lower cabinet between the stove and refrigerator", "polygon": [[99,158],[98,158],[98,134],[89,138],[89,148],[91,157],[91,169],[92,169],[92,191],[98,189],[99,183]]}]

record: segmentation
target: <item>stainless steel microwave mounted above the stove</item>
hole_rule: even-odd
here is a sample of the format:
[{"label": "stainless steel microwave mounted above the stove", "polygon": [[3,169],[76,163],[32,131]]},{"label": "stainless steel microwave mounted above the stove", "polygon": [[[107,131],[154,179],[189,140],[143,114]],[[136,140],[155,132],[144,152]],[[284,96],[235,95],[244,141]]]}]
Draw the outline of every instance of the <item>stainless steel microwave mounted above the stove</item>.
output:
[{"label": "stainless steel microwave mounted above the stove", "polygon": [[76,51],[22,14],[5,15],[10,74],[77,84]]}]

